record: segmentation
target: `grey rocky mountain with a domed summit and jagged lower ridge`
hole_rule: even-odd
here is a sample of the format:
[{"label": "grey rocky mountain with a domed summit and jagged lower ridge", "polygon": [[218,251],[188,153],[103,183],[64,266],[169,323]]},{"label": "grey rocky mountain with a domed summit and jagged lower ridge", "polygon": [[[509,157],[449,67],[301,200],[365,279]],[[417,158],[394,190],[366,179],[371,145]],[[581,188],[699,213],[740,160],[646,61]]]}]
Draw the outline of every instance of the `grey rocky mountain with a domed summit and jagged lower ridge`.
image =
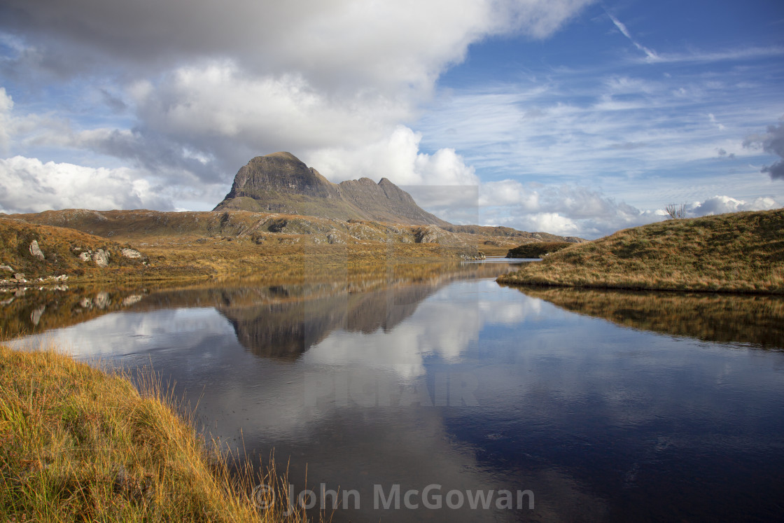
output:
[{"label": "grey rocky mountain with a domed summit and jagged lower ridge", "polygon": [[448,226],[386,178],[332,183],[291,153],[257,156],[242,167],[215,211],[281,212],[338,220]]}]

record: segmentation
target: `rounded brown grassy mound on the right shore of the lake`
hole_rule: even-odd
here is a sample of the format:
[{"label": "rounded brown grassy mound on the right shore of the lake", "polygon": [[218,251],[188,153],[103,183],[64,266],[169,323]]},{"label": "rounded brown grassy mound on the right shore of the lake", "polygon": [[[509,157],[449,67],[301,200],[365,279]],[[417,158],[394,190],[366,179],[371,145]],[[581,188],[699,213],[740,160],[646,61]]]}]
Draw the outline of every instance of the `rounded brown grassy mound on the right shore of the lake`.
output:
[{"label": "rounded brown grassy mound on the right shore of the lake", "polygon": [[667,220],[573,245],[499,282],[784,293],[784,209]]}]

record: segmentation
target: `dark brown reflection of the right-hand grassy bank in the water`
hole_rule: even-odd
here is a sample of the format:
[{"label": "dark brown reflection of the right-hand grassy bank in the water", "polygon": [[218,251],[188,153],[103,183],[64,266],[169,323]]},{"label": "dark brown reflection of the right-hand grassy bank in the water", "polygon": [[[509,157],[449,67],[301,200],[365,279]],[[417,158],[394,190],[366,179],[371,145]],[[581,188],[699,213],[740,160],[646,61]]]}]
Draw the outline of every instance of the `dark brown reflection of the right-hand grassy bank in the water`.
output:
[{"label": "dark brown reflection of the right-hand grassy bank in the water", "polygon": [[518,287],[579,314],[699,340],[784,347],[784,298],[683,292]]}]

